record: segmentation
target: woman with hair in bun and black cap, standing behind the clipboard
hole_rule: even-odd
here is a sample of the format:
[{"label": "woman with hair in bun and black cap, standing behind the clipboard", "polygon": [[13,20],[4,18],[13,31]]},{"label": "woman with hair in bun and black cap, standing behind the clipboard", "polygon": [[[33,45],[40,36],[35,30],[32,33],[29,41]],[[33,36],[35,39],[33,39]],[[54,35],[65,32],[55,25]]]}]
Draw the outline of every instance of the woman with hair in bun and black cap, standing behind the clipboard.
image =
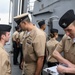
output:
[{"label": "woman with hair in bun and black cap, standing behind the clipboard", "polygon": [[52,53],[55,49],[55,47],[57,46],[57,44],[59,43],[56,39],[58,38],[58,30],[57,29],[51,29],[50,30],[50,40],[47,41],[47,51],[48,51],[48,58],[47,58],[47,62],[48,62],[48,67],[52,67],[58,64],[57,60],[52,56]]}]

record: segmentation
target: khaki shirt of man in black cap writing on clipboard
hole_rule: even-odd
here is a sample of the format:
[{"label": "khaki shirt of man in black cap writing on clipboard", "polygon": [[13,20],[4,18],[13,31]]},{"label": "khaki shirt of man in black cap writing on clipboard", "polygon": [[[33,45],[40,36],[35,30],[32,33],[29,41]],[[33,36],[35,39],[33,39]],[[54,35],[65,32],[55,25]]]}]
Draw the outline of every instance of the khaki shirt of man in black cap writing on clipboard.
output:
[{"label": "khaki shirt of man in black cap writing on clipboard", "polygon": [[58,50],[59,52],[63,51],[64,58],[75,64],[75,43],[70,37],[64,35],[55,50]]}]

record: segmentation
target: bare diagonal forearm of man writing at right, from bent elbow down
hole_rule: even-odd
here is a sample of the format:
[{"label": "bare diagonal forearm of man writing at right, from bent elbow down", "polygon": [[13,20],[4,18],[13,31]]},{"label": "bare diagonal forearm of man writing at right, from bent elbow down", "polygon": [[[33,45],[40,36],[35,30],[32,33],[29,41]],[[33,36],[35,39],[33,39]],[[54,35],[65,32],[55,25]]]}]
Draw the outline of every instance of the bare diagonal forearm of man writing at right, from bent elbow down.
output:
[{"label": "bare diagonal forearm of man writing at right, from bent elbow down", "polygon": [[53,52],[53,57],[55,57],[60,63],[65,64],[65,65],[67,65],[68,67],[75,67],[74,64],[72,64],[72,63],[71,63],[70,61],[68,61],[67,59],[63,58],[63,57],[61,56],[61,54],[60,54],[57,50],[55,50],[55,51]]}]

